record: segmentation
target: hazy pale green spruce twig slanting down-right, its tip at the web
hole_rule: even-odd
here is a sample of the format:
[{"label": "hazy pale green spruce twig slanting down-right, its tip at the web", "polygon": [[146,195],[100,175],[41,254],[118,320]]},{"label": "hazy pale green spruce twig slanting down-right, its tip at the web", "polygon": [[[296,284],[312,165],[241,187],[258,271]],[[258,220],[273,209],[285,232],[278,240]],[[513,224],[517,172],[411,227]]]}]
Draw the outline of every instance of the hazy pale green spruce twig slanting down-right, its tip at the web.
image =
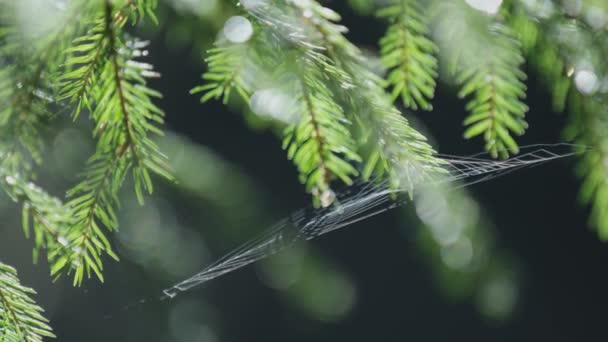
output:
[{"label": "hazy pale green spruce twig slanting down-right, its tip at the web", "polygon": [[372,62],[344,37],[347,29],[336,23],[340,17],[316,2],[300,10],[317,33],[313,44],[322,47],[337,70],[334,92],[358,123],[360,149],[366,157],[363,177],[388,173],[394,187],[411,192],[423,179],[444,173],[442,160],[434,156],[426,138],[392,105],[382,79],[370,68]]}]

